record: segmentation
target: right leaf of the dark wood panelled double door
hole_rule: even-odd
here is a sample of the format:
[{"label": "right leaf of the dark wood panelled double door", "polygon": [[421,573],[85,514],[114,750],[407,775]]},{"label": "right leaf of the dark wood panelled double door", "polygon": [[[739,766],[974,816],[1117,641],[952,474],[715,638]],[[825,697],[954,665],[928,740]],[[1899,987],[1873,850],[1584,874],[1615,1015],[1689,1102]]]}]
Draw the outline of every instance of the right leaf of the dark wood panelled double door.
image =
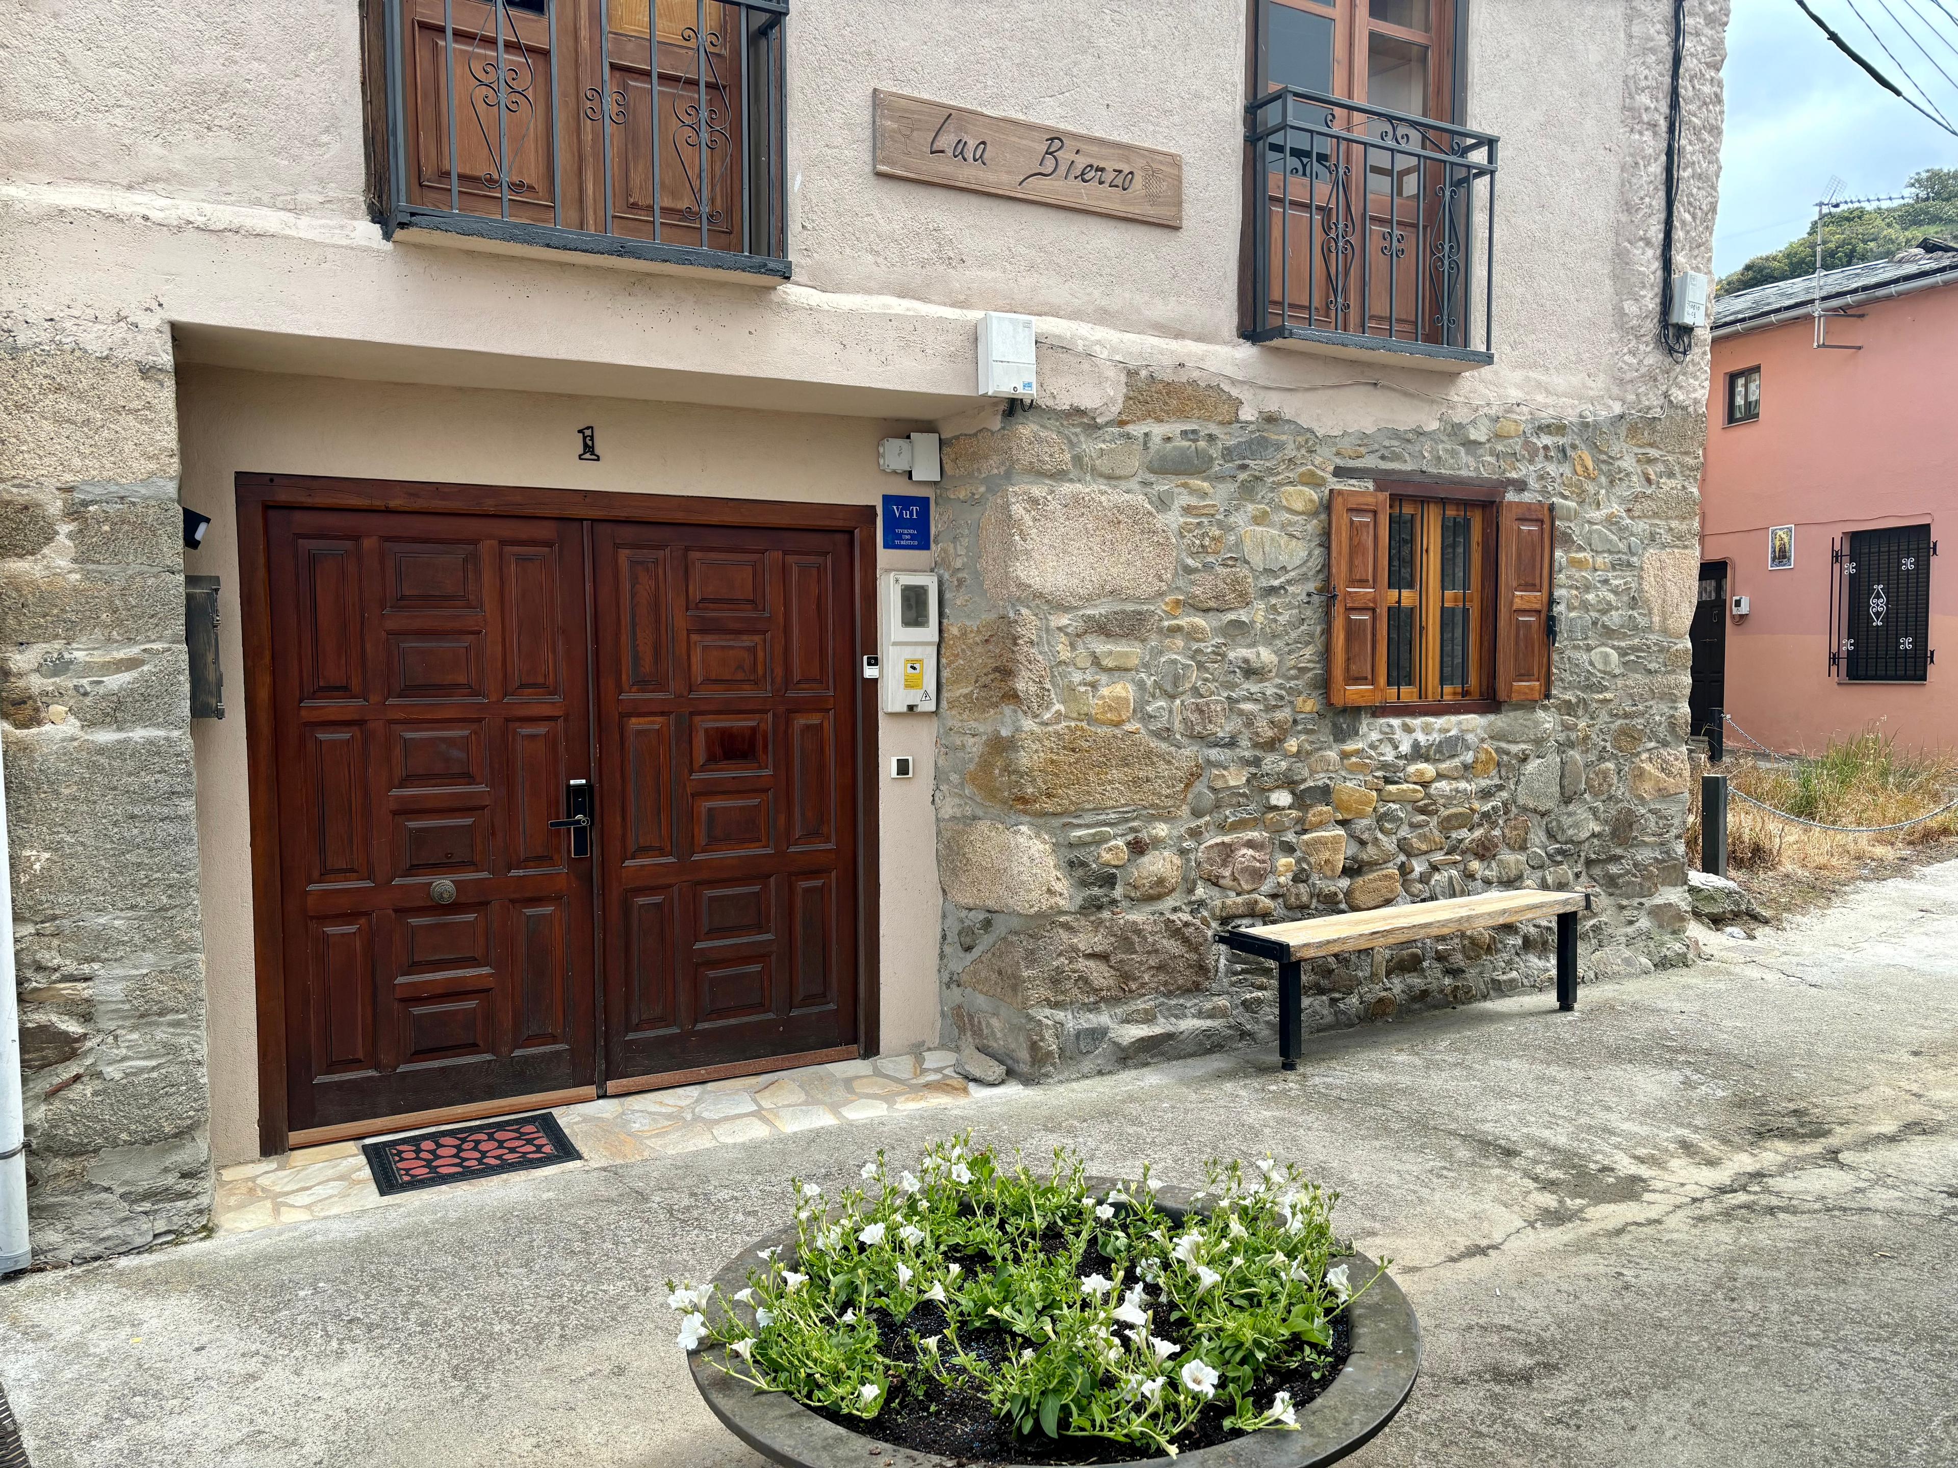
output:
[{"label": "right leaf of the dark wood panelled double door", "polygon": [[595,525],[591,556],[607,1077],[854,1045],[852,536]]}]

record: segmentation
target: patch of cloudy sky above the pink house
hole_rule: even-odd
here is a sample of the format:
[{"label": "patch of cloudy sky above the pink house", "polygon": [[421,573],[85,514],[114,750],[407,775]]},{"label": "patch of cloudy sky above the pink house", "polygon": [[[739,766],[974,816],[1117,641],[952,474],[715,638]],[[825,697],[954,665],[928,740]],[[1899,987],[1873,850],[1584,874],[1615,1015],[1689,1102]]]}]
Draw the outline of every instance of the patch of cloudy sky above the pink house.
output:
[{"label": "patch of cloudy sky above the pink house", "polygon": [[[1891,61],[1848,8],[1848,0],[1809,0],[1815,12],[1901,84]],[[1931,0],[1889,0],[1891,12],[1935,16]],[[1858,0],[1884,25],[1882,0]],[[1946,0],[1950,12],[1958,4]],[[1944,33],[1958,41],[1958,25]],[[1927,35],[1919,27],[1919,35]],[[1895,33],[1891,47],[1958,123],[1958,88],[1944,84],[1923,53]],[[1958,76],[1958,51],[1927,47]],[[1958,137],[1919,117],[1837,51],[1795,0],[1733,0],[1727,27],[1727,141],[1721,147],[1719,221],[1713,270],[1727,274],[1778,249],[1815,219],[1829,178],[1844,198],[1897,194],[1919,168],[1958,168]]]}]

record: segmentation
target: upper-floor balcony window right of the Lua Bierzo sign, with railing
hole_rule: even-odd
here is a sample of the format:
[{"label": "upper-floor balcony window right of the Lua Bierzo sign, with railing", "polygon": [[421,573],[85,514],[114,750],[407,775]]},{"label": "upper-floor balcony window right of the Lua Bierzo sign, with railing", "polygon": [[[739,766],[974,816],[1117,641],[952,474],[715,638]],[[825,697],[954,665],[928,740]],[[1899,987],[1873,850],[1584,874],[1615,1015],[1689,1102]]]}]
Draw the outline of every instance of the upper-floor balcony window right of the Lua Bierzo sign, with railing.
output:
[{"label": "upper-floor balcony window right of the Lua Bierzo sign, with railing", "polygon": [[1253,0],[1245,335],[1490,360],[1496,139],[1459,0]]}]

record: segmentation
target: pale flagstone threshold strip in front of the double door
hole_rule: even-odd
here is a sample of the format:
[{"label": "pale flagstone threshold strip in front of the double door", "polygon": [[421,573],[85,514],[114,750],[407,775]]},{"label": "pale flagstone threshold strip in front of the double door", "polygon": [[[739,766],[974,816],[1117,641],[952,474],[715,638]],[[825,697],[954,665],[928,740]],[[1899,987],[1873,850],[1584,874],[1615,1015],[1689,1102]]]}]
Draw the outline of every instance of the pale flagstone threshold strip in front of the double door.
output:
[{"label": "pale flagstone threshold strip in front of the double door", "polygon": [[[1018,1090],[1020,1082],[971,1086],[954,1075],[950,1049],[832,1061],[799,1071],[711,1080],[699,1086],[642,1090],[630,1096],[556,1106],[552,1114],[583,1153],[560,1169],[617,1167],[674,1157],[703,1147],[732,1147],[789,1131],[871,1122],[895,1112],[957,1106]],[[429,1127],[411,1127],[427,1131]],[[392,1133],[403,1135],[403,1133]],[[382,1198],[358,1141],[302,1147],[284,1157],[217,1169],[211,1231],[217,1235],[307,1223],[368,1208],[448,1198],[464,1188],[495,1188],[527,1172],[450,1182],[427,1192]]]}]

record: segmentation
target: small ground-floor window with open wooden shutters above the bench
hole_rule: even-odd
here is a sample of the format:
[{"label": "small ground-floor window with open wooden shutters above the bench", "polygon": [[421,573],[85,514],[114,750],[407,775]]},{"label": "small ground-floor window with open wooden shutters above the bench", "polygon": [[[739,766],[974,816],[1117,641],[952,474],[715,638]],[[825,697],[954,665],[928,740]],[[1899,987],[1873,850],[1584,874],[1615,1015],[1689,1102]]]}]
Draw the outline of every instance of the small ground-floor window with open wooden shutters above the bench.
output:
[{"label": "small ground-floor window with open wooden shutters above the bench", "polygon": [[1549,505],[1335,489],[1328,703],[1549,697],[1553,540]]}]

